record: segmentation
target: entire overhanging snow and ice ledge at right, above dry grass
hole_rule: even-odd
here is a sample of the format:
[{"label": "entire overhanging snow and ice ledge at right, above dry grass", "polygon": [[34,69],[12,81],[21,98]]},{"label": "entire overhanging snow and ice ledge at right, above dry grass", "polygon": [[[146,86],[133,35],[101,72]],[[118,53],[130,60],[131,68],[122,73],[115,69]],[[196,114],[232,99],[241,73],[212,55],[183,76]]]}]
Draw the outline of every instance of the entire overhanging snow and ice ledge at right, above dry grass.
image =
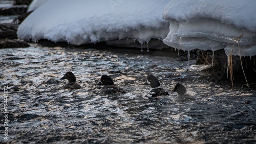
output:
[{"label": "entire overhanging snow and ice ledge at right, above dry grass", "polygon": [[170,21],[169,33],[163,42],[177,49],[190,51],[225,49],[230,54],[233,39],[241,36],[233,55],[256,55],[256,3],[239,1],[170,1],[163,18]]}]

